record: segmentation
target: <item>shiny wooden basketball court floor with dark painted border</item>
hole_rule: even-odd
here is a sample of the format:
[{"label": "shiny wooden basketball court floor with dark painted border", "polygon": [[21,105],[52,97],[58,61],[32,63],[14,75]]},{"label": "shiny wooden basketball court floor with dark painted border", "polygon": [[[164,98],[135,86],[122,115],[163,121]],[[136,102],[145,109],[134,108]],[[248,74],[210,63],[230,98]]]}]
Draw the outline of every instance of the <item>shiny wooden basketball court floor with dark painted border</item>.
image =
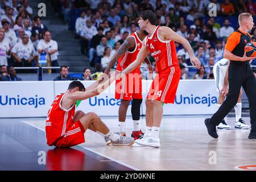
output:
[{"label": "shiny wooden basketball court floor with dark painted border", "polygon": [[[0,119],[0,170],[256,170],[256,140],[250,130],[234,129],[234,114],[226,121],[232,129],[209,137],[204,119],[209,115],[165,116],[160,128],[160,148],[114,147],[93,131],[85,143],[72,148],[46,144],[45,118]],[[242,115],[250,123],[249,114]],[[117,117],[102,117],[118,131]],[[142,118],[142,130],[145,119]],[[133,129],[127,118],[127,135]],[[249,167],[240,167],[249,166]]]}]

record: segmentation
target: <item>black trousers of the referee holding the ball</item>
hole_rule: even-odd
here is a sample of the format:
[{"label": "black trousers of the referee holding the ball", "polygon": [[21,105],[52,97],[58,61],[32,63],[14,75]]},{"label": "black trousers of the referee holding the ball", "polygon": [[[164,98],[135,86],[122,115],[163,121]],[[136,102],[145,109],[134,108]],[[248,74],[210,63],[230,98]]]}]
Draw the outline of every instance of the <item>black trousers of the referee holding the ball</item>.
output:
[{"label": "black trousers of the referee holding the ball", "polygon": [[222,119],[237,104],[240,89],[243,86],[249,101],[251,131],[256,131],[256,80],[249,61],[230,61],[228,80],[229,93],[217,112],[210,118],[210,122],[213,125],[220,124]]}]

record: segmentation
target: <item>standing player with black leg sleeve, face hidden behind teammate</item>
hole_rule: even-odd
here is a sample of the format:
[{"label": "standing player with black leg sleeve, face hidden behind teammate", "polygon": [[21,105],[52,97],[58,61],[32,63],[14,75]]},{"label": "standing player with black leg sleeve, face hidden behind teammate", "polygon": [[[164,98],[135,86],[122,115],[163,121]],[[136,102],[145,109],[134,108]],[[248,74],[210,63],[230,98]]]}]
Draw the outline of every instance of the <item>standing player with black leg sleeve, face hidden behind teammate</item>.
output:
[{"label": "standing player with black leg sleeve, face hidden behind teammate", "polygon": [[[142,41],[147,36],[147,32],[139,30],[129,35],[125,42],[119,47],[117,52],[110,60],[105,72],[109,74],[110,69],[117,63],[117,71],[123,71],[128,65],[136,59],[139,50],[142,48]],[[145,63],[148,65],[148,70],[153,73],[150,61],[145,57]],[[143,137],[142,131],[139,129],[139,118],[142,103],[142,81],[141,81],[141,65],[138,65],[131,73],[115,81],[115,99],[121,99],[121,104],[118,111],[119,133],[125,134],[125,119],[127,109],[131,99],[131,115],[133,117],[133,133],[131,137],[139,139]]]}]

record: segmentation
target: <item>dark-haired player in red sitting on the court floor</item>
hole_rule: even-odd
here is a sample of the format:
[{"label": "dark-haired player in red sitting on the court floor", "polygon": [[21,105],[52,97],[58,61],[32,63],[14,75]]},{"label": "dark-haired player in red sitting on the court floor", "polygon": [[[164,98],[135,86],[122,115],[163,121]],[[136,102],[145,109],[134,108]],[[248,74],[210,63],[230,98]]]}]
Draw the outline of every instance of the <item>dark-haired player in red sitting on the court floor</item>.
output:
[{"label": "dark-haired player in red sitting on the court floor", "polygon": [[49,146],[72,147],[84,143],[84,133],[87,129],[105,137],[108,143],[114,146],[129,146],[134,139],[114,134],[106,127],[97,114],[75,112],[76,101],[86,100],[103,92],[114,81],[114,75],[101,83],[97,80],[88,88],[80,81],[72,81],[67,92],[55,97],[47,114],[46,138]]}]

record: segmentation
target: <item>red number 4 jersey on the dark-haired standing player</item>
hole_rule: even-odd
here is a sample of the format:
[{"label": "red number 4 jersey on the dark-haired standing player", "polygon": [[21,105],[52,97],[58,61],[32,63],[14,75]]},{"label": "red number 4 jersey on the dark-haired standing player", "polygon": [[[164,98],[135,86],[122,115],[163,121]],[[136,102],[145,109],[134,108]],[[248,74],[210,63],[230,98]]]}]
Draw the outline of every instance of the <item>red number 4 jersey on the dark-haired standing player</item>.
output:
[{"label": "red number 4 jersey on the dark-haired standing player", "polygon": [[151,52],[152,57],[156,61],[156,72],[160,73],[168,67],[179,65],[177,60],[176,47],[173,40],[164,41],[159,38],[158,29],[155,28],[154,33],[146,37],[144,46]]}]

